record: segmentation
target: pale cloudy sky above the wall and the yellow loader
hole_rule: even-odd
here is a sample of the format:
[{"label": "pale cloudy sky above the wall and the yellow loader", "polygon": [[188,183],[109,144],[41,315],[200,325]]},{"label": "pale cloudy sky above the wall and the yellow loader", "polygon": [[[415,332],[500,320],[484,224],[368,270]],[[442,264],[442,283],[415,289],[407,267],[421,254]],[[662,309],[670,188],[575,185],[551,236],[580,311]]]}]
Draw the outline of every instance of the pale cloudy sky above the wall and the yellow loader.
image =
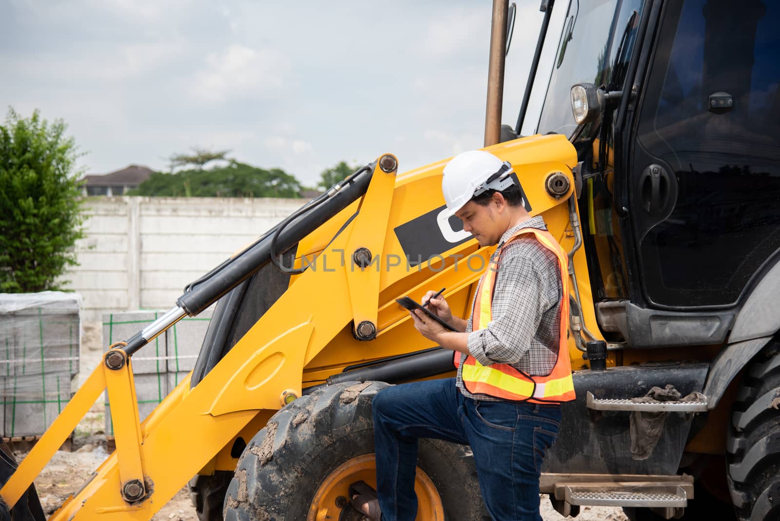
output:
[{"label": "pale cloudy sky above the wall and the yellow loader", "polygon": [[[512,126],[543,18],[517,3]],[[205,147],[314,186],[342,160],[481,147],[490,30],[487,0],[0,0],[0,105],[64,119],[87,173]]]}]

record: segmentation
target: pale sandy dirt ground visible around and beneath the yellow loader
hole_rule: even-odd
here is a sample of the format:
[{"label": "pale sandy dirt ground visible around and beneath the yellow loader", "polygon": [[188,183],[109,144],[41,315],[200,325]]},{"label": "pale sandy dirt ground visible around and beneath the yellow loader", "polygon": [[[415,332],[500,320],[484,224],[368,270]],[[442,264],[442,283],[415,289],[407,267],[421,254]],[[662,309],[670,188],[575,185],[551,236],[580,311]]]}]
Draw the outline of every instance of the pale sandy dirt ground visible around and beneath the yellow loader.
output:
[{"label": "pale sandy dirt ground visible around and beneath the yellow loader", "polygon": [[[100,322],[86,322],[83,326],[80,371],[82,383],[97,363],[100,363],[102,353]],[[108,457],[104,432],[104,409],[103,399],[98,399],[76,428],[73,452],[58,451],[35,480],[38,496],[41,498],[47,516],[62,505],[71,494],[78,491],[97,466]],[[16,461],[21,461],[25,453],[15,452],[14,455]],[[541,497],[541,516],[544,521],[573,519],[555,512],[546,495]],[[197,519],[186,486],[152,519],[154,521]],[[583,507],[576,519],[578,521],[627,521],[622,509],[608,507]]]}]

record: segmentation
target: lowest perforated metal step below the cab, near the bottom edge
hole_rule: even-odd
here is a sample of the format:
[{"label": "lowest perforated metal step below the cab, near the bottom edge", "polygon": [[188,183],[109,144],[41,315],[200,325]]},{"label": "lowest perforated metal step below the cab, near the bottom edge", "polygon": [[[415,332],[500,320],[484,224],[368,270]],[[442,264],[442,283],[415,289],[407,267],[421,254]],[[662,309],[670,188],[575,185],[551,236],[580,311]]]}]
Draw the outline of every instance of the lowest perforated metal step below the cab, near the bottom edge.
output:
[{"label": "lowest perforated metal step below the cab, near the bottom edge", "polygon": [[[626,485],[628,485],[626,487]],[[633,506],[633,507],[685,507],[686,491],[680,486],[622,487],[599,485],[569,485],[564,500],[572,505]]]}]

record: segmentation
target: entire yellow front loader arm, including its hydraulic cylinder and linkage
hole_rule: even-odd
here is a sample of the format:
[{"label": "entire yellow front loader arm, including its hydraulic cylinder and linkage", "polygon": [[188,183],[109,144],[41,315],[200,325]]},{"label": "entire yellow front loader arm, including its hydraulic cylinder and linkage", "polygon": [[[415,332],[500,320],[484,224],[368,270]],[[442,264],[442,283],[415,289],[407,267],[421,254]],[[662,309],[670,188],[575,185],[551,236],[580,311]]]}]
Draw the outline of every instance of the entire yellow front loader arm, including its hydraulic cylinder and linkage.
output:
[{"label": "entire yellow front loader arm, including its hydraulic cylinder and linkage", "polygon": [[[571,168],[576,164],[576,153],[572,145],[564,136],[531,136],[496,145],[491,151],[512,162],[533,206],[532,213],[544,214],[556,239],[569,249],[573,236],[567,232],[566,198],[573,189],[553,196],[545,181],[562,172],[573,186]],[[389,154],[385,158],[395,162]],[[427,289],[445,286],[445,296],[465,311],[473,283],[484,267],[478,261],[486,260],[492,249],[478,248],[468,234],[464,236],[452,223],[437,219],[445,161],[397,178],[395,165],[386,168],[388,161],[378,160],[373,172],[358,175],[343,190],[336,190],[328,202],[310,205],[305,214],[277,230],[275,253],[298,243],[298,254],[314,252],[316,261],[293,277],[289,288],[203,380],[190,388],[190,377],[186,377],[139,425],[132,389],[124,396],[112,392],[112,380],[117,383],[115,389],[132,387],[131,365],[125,364],[124,371],[120,369],[119,376],[112,378],[106,374],[115,369],[104,364],[39,441],[41,448],[30,452],[30,463],[25,459],[0,490],[5,501],[12,504],[13,495],[27,488],[105,385],[109,386],[112,409],[115,399],[126,405],[121,410],[122,432],[116,432],[118,450],[51,519],[151,519],[193,475],[232,446],[232,440],[250,422],[254,426],[258,419],[268,418],[300,396],[304,370],[307,380],[315,374],[315,379],[325,381],[343,367],[344,360],[377,360],[427,346],[395,298],[408,294],[419,299]],[[323,237],[322,230],[332,230],[333,223],[322,230],[318,227],[342,210],[337,216],[342,222],[347,211],[358,213],[338,236]],[[174,310],[197,314],[261,268],[270,258],[270,241],[271,234],[267,234],[246,253],[194,285],[167,320],[176,320],[180,312]],[[419,263],[410,264],[416,248],[429,253]],[[339,262],[341,259],[344,261]],[[363,333],[371,329],[360,328],[363,322],[374,325],[371,342],[360,340],[361,329]],[[151,324],[146,332],[136,335],[138,338],[131,338],[128,346],[115,346],[115,352],[120,352],[115,353],[119,356],[116,360],[127,360],[122,359],[122,353],[131,355],[165,327],[169,326]],[[246,451],[255,450],[260,447],[246,447]],[[143,495],[133,500],[140,489]]]}]

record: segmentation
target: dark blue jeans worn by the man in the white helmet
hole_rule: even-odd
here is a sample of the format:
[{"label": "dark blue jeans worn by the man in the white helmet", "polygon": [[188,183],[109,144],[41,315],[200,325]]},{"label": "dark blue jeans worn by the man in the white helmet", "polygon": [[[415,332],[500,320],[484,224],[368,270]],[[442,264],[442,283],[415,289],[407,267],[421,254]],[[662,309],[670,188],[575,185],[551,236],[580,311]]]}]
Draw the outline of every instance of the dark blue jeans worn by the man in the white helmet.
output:
[{"label": "dark blue jeans worn by the man in the white helmet", "polygon": [[539,473],[558,436],[558,405],[480,402],[455,378],[382,389],[374,397],[377,493],[382,521],[414,521],[417,439],[470,445],[488,512],[496,521],[539,515]]}]

